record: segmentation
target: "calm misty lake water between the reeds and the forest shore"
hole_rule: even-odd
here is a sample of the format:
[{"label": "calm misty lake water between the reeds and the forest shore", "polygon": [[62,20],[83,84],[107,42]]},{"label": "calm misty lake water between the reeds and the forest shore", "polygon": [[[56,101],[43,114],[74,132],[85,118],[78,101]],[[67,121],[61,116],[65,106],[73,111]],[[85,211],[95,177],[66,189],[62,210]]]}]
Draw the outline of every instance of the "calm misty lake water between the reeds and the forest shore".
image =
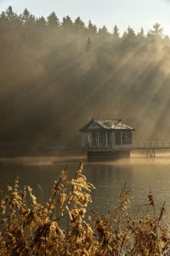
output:
[{"label": "calm misty lake water between the reeds and the forest shore", "polygon": [[[59,173],[68,164],[68,177],[75,176],[78,157],[22,157],[15,159],[0,159],[0,189],[6,190],[7,185],[14,185],[14,178],[20,176],[20,186],[31,185],[33,193],[41,202],[48,199],[50,188]],[[83,173],[95,190],[93,207],[99,213],[106,213],[116,207],[119,191],[127,182],[127,188],[132,189],[133,196],[130,206],[134,214],[139,207],[148,204],[147,195],[150,189],[155,195],[156,209],[166,201],[167,212],[170,210],[170,153],[156,154],[156,159],[135,154],[130,160],[116,162],[88,163],[85,161]],[[147,211],[148,207],[140,207]]]}]

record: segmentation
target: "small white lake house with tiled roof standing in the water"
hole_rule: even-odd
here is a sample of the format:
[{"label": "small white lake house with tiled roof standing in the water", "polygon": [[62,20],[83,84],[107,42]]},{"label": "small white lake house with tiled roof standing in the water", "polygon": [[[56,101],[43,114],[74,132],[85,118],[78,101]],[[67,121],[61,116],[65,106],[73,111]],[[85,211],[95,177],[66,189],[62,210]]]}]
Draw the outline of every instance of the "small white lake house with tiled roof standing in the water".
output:
[{"label": "small white lake house with tiled roof standing in the water", "polygon": [[134,129],[121,119],[91,119],[82,132],[82,148],[88,161],[115,160],[130,157]]}]

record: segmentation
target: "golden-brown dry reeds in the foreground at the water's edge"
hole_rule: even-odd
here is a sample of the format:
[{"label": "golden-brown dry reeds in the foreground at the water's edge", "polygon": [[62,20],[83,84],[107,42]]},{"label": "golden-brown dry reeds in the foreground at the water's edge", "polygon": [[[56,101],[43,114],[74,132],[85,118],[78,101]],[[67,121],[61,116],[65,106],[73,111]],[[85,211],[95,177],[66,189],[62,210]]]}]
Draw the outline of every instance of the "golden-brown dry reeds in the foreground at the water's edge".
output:
[{"label": "golden-brown dry reeds in the foreground at the water's edge", "polygon": [[0,255],[169,255],[170,234],[162,224],[164,206],[156,215],[150,191],[149,213],[132,217],[129,190],[120,191],[118,206],[105,216],[87,212],[92,202],[82,174],[82,161],[69,182],[66,170],[54,182],[47,203],[40,204],[32,189],[8,187],[0,206]]}]

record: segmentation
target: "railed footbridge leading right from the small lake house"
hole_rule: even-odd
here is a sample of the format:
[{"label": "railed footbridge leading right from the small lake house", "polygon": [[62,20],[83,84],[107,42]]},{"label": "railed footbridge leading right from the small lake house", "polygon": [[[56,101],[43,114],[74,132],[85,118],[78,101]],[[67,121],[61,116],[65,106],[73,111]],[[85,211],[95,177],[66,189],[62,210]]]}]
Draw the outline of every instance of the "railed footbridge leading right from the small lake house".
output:
[{"label": "railed footbridge leading right from the small lake house", "polygon": [[170,142],[133,143],[131,150],[170,149]]}]

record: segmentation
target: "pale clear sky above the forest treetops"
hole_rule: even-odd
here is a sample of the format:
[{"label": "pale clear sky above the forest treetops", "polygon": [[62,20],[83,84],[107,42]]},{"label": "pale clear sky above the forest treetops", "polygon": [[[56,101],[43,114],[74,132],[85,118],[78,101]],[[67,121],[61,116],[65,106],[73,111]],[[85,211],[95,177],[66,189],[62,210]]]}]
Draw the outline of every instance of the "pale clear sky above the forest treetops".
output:
[{"label": "pale clear sky above the forest treetops", "polygon": [[17,14],[27,8],[36,17],[46,18],[54,11],[60,21],[65,15],[72,20],[80,16],[86,25],[92,20],[98,28],[105,25],[109,32],[117,25],[121,34],[127,26],[135,32],[143,27],[147,34],[158,22],[170,36],[170,0],[0,0],[0,13],[9,5]]}]

